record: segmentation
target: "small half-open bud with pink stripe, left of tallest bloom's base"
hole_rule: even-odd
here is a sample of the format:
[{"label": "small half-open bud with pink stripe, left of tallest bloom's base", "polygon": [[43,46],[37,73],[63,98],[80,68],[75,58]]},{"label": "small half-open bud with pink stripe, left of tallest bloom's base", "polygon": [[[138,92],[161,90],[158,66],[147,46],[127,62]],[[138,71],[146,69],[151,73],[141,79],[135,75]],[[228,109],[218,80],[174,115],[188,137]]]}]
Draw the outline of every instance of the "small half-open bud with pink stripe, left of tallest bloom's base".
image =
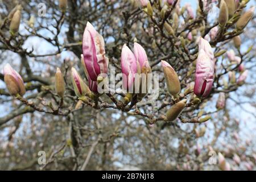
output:
[{"label": "small half-open bud with pink stripe, left of tallest bloom's base", "polygon": [[82,81],[81,76],[79,73],[77,73],[75,68],[71,69],[72,72],[72,83],[73,87],[76,93],[77,97],[85,96],[86,94],[89,94],[89,88],[85,84],[84,81]]}]

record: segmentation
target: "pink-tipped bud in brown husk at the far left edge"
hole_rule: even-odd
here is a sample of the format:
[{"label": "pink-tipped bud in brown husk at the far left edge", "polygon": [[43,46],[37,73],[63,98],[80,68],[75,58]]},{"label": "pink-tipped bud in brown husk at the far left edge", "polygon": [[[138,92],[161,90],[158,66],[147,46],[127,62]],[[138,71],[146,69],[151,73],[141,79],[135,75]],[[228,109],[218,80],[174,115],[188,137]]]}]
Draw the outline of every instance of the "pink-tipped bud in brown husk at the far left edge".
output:
[{"label": "pink-tipped bud in brown husk at the far left edge", "polygon": [[18,72],[11,68],[10,64],[6,64],[3,68],[3,75],[7,89],[11,95],[15,96],[16,94],[19,94],[20,96],[23,96],[25,94],[26,89],[22,77]]}]

